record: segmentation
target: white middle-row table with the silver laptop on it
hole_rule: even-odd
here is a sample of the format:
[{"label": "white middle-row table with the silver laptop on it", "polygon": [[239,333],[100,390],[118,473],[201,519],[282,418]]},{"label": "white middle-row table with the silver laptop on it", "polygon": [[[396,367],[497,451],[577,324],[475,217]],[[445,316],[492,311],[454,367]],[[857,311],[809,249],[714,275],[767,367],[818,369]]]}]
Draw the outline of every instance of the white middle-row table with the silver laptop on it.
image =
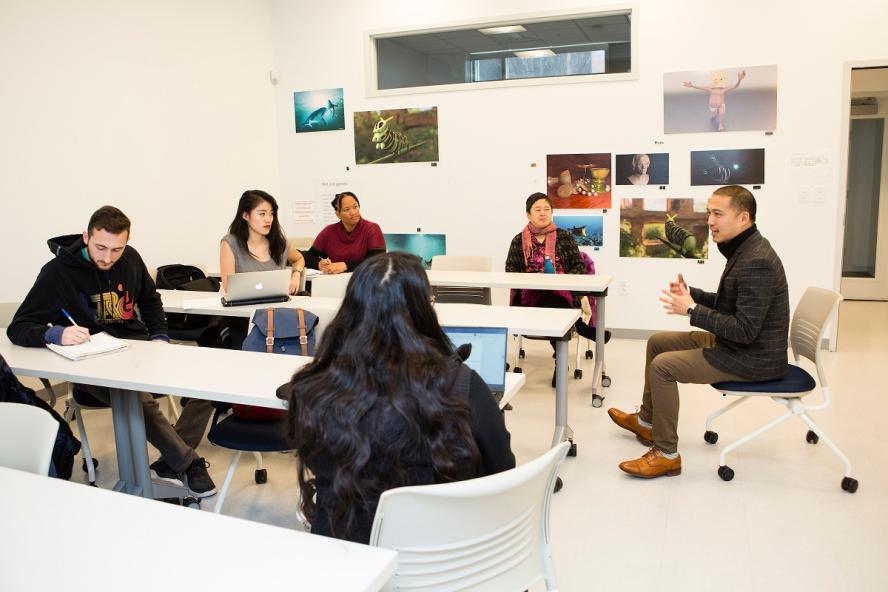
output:
[{"label": "white middle-row table with the silver laptop on it", "polygon": [[[341,276],[345,274],[339,275]],[[222,306],[219,294],[208,296],[207,293],[187,292],[183,290],[158,290],[158,293],[161,295],[163,308],[166,312],[187,312],[191,314],[205,315],[224,314],[226,316],[252,318],[253,311],[256,310],[256,308],[268,306]],[[310,310],[318,315],[320,319],[319,331],[322,332],[324,329],[324,323],[329,322],[329,320],[333,318],[336,311],[339,309],[341,302],[341,298],[334,297],[293,296],[290,298],[289,302],[274,304],[273,306],[300,306],[306,310]],[[580,311],[578,309],[534,308],[531,311],[527,308],[513,306],[436,303],[435,312],[438,315],[438,322],[444,326],[506,327],[510,332],[516,334],[557,339],[558,341],[555,343],[555,431],[552,435],[552,446],[556,446],[564,440],[570,440],[571,443],[573,443],[573,430],[567,423],[568,342],[563,338],[566,335],[569,335],[574,323],[580,318]],[[602,315],[603,310],[599,312],[599,318],[603,319]],[[596,355],[600,355],[600,357],[603,358],[604,331],[601,331],[598,337],[600,338],[600,345],[596,343]],[[600,351],[598,349],[599,347]],[[599,368],[600,363],[600,361],[596,361],[595,365],[595,371],[599,374],[601,372],[601,368]],[[501,405],[505,405],[515,392],[513,391],[512,395],[509,394],[508,385],[510,376],[516,375],[512,373],[506,374],[507,392],[504,394],[503,399],[500,402]],[[598,397],[600,405],[601,397],[597,395],[594,388],[593,396]],[[576,447],[571,448],[571,454],[576,454]]]}]

